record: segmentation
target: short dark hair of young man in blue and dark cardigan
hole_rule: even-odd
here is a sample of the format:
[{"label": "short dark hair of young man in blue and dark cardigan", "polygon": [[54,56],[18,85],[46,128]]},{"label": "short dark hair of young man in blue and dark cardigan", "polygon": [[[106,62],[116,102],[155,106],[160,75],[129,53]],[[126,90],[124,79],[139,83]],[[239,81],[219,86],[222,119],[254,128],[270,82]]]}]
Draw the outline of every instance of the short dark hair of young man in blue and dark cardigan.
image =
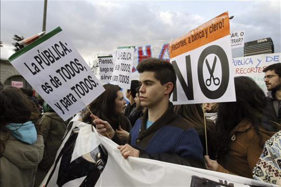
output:
[{"label": "short dark hair of young man in blue and dark cardigan", "polygon": [[136,68],[139,73],[143,73],[145,71],[154,72],[154,77],[160,81],[161,85],[169,82],[173,83],[174,87],[170,95],[172,94],[175,88],[177,76],[175,69],[170,62],[158,58],[147,58],[142,60]]}]

